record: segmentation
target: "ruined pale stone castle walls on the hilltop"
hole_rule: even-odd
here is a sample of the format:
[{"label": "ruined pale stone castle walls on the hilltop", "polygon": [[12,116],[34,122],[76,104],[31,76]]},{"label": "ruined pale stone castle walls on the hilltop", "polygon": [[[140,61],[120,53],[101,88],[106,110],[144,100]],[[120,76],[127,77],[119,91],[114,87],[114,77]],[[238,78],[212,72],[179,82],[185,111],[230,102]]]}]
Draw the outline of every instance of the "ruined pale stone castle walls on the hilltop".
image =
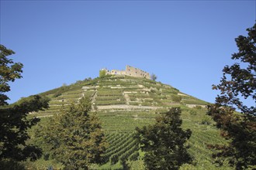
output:
[{"label": "ruined pale stone castle walls on the hilltop", "polygon": [[[150,79],[150,74],[145,72],[144,70],[137,69],[133,66],[126,66],[126,70],[107,70],[102,69],[103,71],[106,71],[106,75],[126,75],[126,76],[136,76],[141,78],[147,78]],[[101,70],[101,71],[102,71]]]}]

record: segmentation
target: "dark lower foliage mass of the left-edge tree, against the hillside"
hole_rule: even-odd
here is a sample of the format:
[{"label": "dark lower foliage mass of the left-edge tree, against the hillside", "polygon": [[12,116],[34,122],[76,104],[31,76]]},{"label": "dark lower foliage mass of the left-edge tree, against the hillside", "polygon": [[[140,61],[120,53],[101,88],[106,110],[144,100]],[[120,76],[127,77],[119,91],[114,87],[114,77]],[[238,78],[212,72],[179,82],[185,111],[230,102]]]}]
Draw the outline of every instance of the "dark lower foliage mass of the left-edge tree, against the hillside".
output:
[{"label": "dark lower foliage mass of the left-edge tree, against the hillside", "polygon": [[39,119],[27,119],[30,112],[48,107],[48,100],[40,96],[32,96],[19,100],[17,104],[0,107],[0,159],[12,158],[22,161],[26,158],[35,160],[40,150],[27,145],[29,139],[27,129],[35,125]]}]

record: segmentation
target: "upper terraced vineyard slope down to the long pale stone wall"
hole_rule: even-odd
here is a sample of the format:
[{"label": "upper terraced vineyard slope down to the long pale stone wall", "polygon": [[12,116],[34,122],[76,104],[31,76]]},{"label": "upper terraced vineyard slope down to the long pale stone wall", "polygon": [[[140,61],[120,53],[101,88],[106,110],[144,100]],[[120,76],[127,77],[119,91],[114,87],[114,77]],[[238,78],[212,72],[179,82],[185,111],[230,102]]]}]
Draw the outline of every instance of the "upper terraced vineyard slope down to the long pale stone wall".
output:
[{"label": "upper terraced vineyard slope down to the long pale stone wall", "polygon": [[92,111],[159,110],[173,106],[196,107],[207,104],[166,84],[132,76],[107,76],[78,81],[41,95],[50,97],[50,108],[39,116],[54,114],[60,107],[76,103],[84,96],[92,97]]}]

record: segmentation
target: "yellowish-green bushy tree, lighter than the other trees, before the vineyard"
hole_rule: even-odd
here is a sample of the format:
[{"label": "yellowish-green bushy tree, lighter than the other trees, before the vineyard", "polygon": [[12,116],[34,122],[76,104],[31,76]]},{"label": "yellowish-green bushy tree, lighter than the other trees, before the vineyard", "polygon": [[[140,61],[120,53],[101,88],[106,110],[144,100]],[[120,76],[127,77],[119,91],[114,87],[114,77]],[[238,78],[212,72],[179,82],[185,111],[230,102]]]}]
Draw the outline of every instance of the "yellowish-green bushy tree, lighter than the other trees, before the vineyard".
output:
[{"label": "yellowish-green bushy tree, lighter than the other trees, before the vineyard", "polygon": [[90,109],[90,100],[82,98],[79,104],[61,110],[50,124],[40,126],[36,138],[44,154],[69,169],[88,169],[91,163],[102,162],[106,141],[99,118],[89,115]]}]

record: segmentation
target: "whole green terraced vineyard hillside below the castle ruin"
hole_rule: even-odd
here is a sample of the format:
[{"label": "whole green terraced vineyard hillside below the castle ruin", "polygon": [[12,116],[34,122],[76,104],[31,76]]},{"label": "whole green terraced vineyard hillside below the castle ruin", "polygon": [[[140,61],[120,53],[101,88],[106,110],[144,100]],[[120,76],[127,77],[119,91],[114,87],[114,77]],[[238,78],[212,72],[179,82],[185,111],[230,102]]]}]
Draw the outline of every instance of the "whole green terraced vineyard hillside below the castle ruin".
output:
[{"label": "whole green terraced vineyard hillside below the castle ruin", "polygon": [[[144,153],[133,139],[136,127],[154,124],[157,113],[169,107],[182,108],[182,126],[192,130],[187,146],[194,157],[193,165],[183,165],[182,169],[220,169],[213,165],[212,151],[206,144],[223,144],[220,132],[213,121],[206,116],[206,102],[199,100],[169,85],[152,80],[130,76],[108,76],[94,80],[79,81],[70,86],[60,87],[41,93],[50,98],[50,108],[29,117],[41,117],[43,122],[57,114],[61,107],[76,103],[83,96],[92,98],[92,113],[97,114],[106,132],[109,148],[104,154],[104,165],[92,165],[92,169],[122,169],[124,163],[132,169],[143,169],[141,158]],[[53,161],[34,162],[34,168],[45,168]],[[223,166],[223,169],[230,167]]]}]

